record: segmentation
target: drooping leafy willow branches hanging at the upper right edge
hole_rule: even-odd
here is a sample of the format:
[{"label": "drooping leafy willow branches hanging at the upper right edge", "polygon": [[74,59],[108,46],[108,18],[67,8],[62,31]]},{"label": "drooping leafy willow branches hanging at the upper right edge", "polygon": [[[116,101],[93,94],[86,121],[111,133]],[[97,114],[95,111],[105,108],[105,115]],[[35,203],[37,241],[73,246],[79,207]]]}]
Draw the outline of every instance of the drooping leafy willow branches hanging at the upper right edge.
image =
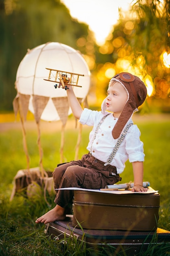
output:
[{"label": "drooping leafy willow branches hanging at the upper right edge", "polygon": [[153,96],[167,99],[170,69],[164,65],[163,54],[170,53],[170,1],[146,0],[142,4],[138,0],[133,10],[137,13],[130,41],[134,63],[137,64],[139,55],[143,56],[143,72],[153,79]]}]

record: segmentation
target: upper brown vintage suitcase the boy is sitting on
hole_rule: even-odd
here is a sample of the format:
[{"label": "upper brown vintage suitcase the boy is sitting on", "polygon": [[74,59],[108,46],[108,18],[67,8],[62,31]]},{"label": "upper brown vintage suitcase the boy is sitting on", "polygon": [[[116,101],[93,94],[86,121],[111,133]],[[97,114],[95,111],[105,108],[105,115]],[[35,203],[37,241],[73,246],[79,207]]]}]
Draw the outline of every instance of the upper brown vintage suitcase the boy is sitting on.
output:
[{"label": "upper brown vintage suitcase the boy is sitting on", "polygon": [[112,194],[74,191],[73,227],[153,231],[159,218],[159,193]]}]

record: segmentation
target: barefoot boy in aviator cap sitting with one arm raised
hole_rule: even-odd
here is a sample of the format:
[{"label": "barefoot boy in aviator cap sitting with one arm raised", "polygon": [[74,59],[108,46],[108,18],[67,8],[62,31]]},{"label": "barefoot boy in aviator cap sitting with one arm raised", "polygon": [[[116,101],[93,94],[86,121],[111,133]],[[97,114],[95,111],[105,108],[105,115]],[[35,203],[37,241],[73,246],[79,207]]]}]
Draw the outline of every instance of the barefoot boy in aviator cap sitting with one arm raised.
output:
[{"label": "barefoot boy in aviator cap sitting with one arm raised", "polygon": [[[132,191],[147,191],[143,188],[144,150],[140,141],[140,131],[131,125],[121,142],[117,153],[111,153],[117,139],[127,124],[132,124],[132,114],[145,101],[147,90],[137,76],[122,72],[114,76],[108,86],[108,96],[102,103],[102,111],[82,110],[73,89],[67,90],[68,101],[73,115],[81,124],[93,126],[89,135],[88,154],[81,160],[61,164],[55,168],[53,179],[55,189],[79,187],[101,189],[121,180],[119,174],[124,171],[125,162],[132,162],[134,187]],[[107,111],[106,111],[107,110]],[[108,112],[109,111],[109,112]],[[35,222],[44,224],[55,220],[64,220],[68,204],[73,200],[72,190],[58,190],[54,202],[56,206],[38,218]]]}]

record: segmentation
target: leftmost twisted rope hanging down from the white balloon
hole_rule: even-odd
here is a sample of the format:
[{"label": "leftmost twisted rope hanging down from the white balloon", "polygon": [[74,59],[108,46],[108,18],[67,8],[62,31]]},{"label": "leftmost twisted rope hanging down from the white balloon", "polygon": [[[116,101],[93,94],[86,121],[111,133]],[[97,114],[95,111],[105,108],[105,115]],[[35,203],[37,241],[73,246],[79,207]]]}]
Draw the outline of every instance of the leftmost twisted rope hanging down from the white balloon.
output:
[{"label": "leftmost twisted rope hanging down from the white balloon", "polygon": [[20,110],[20,120],[21,120],[21,126],[22,126],[23,148],[24,148],[24,152],[25,152],[25,155],[26,155],[27,170],[28,170],[28,173],[30,174],[29,153],[28,153],[28,148],[27,148],[27,144],[26,144],[26,130],[25,130],[25,127],[24,127],[24,115],[23,115],[23,112],[22,112],[22,106],[21,106],[21,103],[20,103],[20,98],[19,98],[19,110]]}]

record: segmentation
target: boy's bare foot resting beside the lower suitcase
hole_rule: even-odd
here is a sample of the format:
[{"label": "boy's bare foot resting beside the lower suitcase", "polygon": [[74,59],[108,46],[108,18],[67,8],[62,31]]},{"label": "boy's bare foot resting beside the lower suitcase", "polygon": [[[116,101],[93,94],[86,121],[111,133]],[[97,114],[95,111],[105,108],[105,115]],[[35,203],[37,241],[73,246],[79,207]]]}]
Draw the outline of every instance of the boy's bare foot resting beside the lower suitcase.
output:
[{"label": "boy's bare foot resting beside the lower suitcase", "polygon": [[48,211],[40,218],[35,220],[36,223],[49,223],[54,222],[55,220],[64,220],[66,218],[65,209],[56,205],[52,210]]}]

